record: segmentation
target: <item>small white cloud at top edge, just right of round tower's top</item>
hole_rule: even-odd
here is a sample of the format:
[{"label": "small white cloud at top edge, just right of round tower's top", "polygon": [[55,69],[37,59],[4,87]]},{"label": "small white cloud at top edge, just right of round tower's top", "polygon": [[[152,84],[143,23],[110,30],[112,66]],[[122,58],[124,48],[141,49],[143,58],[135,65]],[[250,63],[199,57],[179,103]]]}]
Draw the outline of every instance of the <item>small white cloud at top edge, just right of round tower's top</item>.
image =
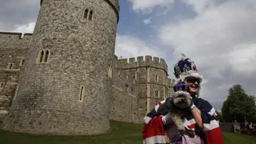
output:
[{"label": "small white cloud at top edge, just right of round tower's top", "polygon": [[141,11],[143,13],[150,13],[156,6],[170,6],[174,0],[129,0],[132,2],[132,9],[134,11]]}]

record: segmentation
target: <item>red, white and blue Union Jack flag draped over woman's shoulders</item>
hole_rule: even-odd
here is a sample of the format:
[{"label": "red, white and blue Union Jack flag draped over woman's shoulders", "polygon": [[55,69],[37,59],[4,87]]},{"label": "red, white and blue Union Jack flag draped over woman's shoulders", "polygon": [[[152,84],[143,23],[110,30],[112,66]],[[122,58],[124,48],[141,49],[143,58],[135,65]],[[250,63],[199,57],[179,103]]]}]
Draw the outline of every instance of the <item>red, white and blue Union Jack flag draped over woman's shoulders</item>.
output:
[{"label": "red, white and blue Union Jack flag draped over woman's shoulders", "polygon": [[[143,144],[166,143],[164,138],[164,124],[162,121],[163,116],[156,114],[158,107],[164,102],[165,100],[159,102],[158,105],[144,117],[144,126],[142,129]],[[192,115],[183,119],[183,125],[188,129],[194,130],[207,144],[222,144],[222,134],[215,109],[208,101],[199,97],[194,98],[193,103],[199,110],[201,110],[201,117],[204,125],[203,131],[197,127]]]}]

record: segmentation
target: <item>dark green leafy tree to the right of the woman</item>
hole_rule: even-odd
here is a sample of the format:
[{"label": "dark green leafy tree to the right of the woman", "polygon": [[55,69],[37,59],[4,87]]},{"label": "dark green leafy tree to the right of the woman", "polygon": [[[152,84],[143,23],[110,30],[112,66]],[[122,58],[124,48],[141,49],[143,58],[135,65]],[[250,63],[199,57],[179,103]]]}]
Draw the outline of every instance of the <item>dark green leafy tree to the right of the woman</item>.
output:
[{"label": "dark green leafy tree to the right of the woman", "polygon": [[230,87],[227,100],[223,102],[221,108],[222,117],[225,122],[244,122],[244,117],[248,122],[256,122],[255,97],[247,95],[243,87],[239,84]]}]

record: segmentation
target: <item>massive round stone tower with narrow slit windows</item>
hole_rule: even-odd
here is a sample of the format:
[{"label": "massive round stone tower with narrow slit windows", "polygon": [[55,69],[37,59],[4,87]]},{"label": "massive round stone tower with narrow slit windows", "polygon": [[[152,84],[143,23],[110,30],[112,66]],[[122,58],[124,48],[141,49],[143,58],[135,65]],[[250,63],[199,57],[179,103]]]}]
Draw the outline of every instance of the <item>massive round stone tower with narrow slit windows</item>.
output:
[{"label": "massive round stone tower with narrow slit windows", "polygon": [[41,0],[19,89],[3,129],[86,135],[109,131],[118,0]]}]

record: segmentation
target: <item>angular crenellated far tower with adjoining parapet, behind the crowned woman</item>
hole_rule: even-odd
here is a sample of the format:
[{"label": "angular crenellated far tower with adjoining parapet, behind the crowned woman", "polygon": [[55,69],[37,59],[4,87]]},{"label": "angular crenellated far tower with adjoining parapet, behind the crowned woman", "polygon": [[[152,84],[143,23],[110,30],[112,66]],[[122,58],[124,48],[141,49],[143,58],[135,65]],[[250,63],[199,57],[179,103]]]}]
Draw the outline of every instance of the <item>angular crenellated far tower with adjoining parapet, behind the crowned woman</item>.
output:
[{"label": "angular crenellated far tower with adjoining parapet, behind the crowned woman", "polygon": [[[154,106],[167,98],[169,93],[167,64],[164,59],[146,55],[117,60],[118,67],[133,75],[138,80],[138,115],[142,119]],[[157,95],[156,95],[157,91]]]}]

